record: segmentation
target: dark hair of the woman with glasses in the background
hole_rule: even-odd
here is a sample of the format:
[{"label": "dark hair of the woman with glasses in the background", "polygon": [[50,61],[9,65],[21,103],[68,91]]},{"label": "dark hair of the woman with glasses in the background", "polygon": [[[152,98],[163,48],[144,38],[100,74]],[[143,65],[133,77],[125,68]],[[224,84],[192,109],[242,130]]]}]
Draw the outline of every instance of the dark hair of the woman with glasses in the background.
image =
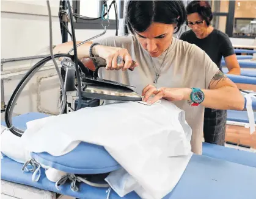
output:
[{"label": "dark hair of the woman with glasses in the background", "polygon": [[203,20],[207,23],[207,26],[210,25],[211,20],[213,19],[213,13],[211,12],[211,5],[208,1],[191,1],[186,7],[187,15],[192,13],[198,13]]}]

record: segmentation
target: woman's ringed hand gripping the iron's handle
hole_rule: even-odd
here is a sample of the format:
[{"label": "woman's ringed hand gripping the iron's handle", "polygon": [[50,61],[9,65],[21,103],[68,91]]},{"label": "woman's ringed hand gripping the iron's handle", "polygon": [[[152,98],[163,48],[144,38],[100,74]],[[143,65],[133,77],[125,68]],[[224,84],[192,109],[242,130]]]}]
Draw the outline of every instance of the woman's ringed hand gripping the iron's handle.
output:
[{"label": "woman's ringed hand gripping the iron's handle", "polygon": [[[120,70],[126,71],[127,69],[138,66],[135,61],[131,58],[131,55],[128,53],[127,49],[121,47],[111,47],[111,46],[95,46],[96,54],[106,60],[106,69],[107,70]],[[121,63],[117,63],[117,57],[123,59]]]}]

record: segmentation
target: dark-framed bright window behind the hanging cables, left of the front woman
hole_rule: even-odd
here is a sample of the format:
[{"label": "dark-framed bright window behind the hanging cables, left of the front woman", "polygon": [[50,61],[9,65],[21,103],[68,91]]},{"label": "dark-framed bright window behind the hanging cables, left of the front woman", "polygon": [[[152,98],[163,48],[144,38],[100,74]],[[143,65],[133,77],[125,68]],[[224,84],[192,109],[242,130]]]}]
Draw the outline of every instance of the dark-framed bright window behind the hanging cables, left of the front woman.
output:
[{"label": "dark-framed bright window behind the hanging cables, left of the front woman", "polygon": [[[87,16],[89,18],[99,18],[96,20],[84,20],[76,18],[75,29],[103,29],[101,26],[101,10],[104,1],[100,0],[82,0],[82,1],[73,1],[73,12],[78,13],[79,15]],[[108,9],[113,1],[107,1]],[[117,3],[117,16],[119,12],[120,0],[115,1]],[[123,9],[120,7],[120,9]],[[115,6],[112,4],[111,9],[109,10],[109,27],[108,29],[116,29],[115,23]]]}]

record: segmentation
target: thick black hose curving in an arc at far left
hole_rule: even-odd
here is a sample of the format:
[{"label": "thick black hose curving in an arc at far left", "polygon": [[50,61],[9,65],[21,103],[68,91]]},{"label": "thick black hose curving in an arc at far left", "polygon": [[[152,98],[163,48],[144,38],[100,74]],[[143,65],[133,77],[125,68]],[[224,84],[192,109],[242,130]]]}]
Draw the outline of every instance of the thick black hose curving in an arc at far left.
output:
[{"label": "thick black hose curving in an arc at far left", "polygon": [[[68,58],[71,58],[71,60],[75,59],[73,55],[68,55],[68,54],[54,55],[54,58],[59,58],[59,57],[68,57]],[[21,81],[18,83],[15,90],[13,91],[12,96],[10,97],[10,100],[5,109],[5,123],[7,128],[9,128],[9,130],[16,136],[19,136],[19,137],[22,136],[24,131],[14,127],[12,124],[12,113],[13,113],[14,105],[16,104],[16,101],[18,100],[18,97],[20,96],[27,82],[29,82],[29,80],[31,80],[34,74],[50,60],[52,60],[51,56],[43,58],[43,60],[38,61],[34,66],[32,66],[32,68],[29,69],[29,71],[27,71],[27,73],[22,77]],[[81,65],[80,67],[83,66],[81,62],[79,62],[79,65]]]}]

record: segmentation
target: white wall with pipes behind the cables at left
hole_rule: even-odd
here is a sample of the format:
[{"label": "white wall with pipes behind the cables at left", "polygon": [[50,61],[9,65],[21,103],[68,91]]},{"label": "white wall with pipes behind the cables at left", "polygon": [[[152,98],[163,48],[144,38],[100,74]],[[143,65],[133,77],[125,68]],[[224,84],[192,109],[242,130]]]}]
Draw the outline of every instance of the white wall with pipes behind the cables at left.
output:
[{"label": "white wall with pipes behind the cables at left", "polygon": [[[53,14],[53,44],[61,43],[59,1],[51,0]],[[1,59],[49,54],[49,22],[46,1],[1,1]],[[86,40],[103,30],[76,30],[76,40]],[[104,37],[114,35],[115,30],[108,30]],[[70,38],[69,38],[70,41]],[[4,98],[7,104],[18,82],[27,68],[38,60],[5,63],[1,77],[4,80]],[[49,69],[47,69],[47,67]],[[50,110],[57,113],[59,99],[59,79],[52,63],[45,66],[45,71],[27,84],[15,106],[15,113]],[[16,75],[21,73],[21,75]],[[41,96],[41,97],[39,97]]]}]

